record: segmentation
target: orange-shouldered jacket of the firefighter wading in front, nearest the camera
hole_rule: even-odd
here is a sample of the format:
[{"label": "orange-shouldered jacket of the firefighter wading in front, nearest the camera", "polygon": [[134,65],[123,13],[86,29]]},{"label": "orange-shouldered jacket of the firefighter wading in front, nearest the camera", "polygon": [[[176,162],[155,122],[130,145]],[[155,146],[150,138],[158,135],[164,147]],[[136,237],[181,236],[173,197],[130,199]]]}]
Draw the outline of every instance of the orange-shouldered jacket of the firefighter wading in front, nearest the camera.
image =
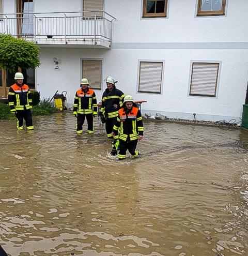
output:
[{"label": "orange-shouldered jacket of the firefighter wading in front, nearest the camera", "polygon": [[115,133],[119,130],[120,140],[126,141],[128,137],[130,141],[137,140],[138,135],[143,135],[144,132],[141,111],[132,107],[127,113],[124,108],[121,108],[113,129]]}]

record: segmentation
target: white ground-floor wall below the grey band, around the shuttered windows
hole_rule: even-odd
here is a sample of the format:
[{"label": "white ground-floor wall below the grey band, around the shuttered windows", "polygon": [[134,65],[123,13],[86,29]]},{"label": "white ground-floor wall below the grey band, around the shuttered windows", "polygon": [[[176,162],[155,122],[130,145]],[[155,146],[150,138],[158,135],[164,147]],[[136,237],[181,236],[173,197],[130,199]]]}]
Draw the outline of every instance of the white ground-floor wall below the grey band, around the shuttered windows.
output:
[{"label": "white ground-floor wall below the grey band, around the shuttered windows", "polygon": [[[53,57],[59,59],[58,70],[54,69]],[[242,115],[248,78],[247,50],[42,49],[42,65],[37,70],[37,90],[41,95],[51,97],[57,89],[67,91],[68,102],[73,103],[81,79],[82,58],[102,58],[103,78],[111,75],[123,92],[136,100],[147,100],[144,111],[184,118],[193,118],[196,113],[200,119]],[[139,60],[164,61],[161,95],[137,93]],[[189,96],[191,61],[221,62],[217,97]],[[103,89],[96,90],[98,102]]]}]

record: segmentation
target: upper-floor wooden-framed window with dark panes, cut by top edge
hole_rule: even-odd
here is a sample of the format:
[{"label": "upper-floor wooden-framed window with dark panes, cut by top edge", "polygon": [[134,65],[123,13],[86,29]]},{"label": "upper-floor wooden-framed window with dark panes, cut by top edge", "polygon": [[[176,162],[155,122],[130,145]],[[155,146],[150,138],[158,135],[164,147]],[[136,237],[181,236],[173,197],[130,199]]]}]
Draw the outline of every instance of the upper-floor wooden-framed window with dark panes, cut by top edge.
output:
[{"label": "upper-floor wooden-framed window with dark panes, cut by top edge", "polygon": [[143,1],[143,18],[166,17],[167,0]]}]

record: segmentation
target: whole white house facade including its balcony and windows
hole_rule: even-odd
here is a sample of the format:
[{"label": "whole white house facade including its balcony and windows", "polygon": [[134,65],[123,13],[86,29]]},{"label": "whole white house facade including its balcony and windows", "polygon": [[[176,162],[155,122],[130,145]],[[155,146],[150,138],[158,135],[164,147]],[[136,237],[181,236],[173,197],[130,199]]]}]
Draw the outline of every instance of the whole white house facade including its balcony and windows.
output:
[{"label": "whole white house facade including its balcony and windows", "polygon": [[[147,100],[143,112],[239,121],[247,10],[247,0],[0,0],[0,33],[40,46],[41,66],[24,74],[41,97],[67,91],[71,106],[86,77],[100,102],[110,75]],[[2,70],[0,80],[1,96],[12,74]]]}]

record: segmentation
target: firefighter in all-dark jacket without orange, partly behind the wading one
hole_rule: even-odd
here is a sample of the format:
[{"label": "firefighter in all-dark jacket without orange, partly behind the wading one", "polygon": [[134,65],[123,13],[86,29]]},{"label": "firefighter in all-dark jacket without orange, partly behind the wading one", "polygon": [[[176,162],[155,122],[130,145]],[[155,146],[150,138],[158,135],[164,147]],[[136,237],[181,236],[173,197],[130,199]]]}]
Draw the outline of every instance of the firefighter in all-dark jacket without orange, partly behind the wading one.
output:
[{"label": "firefighter in all-dark jacket without orange, partly behind the wading one", "polygon": [[[105,129],[107,133],[107,138],[113,138],[111,133],[116,123],[118,111],[122,105],[121,101],[123,101],[123,98],[125,97],[125,94],[123,94],[123,92],[116,88],[115,83],[116,82],[114,78],[108,76],[106,78],[107,88],[105,89],[105,92],[102,95],[102,106],[100,109],[100,116],[101,119],[105,119]],[[117,131],[114,136],[114,139],[118,139]]]}]

